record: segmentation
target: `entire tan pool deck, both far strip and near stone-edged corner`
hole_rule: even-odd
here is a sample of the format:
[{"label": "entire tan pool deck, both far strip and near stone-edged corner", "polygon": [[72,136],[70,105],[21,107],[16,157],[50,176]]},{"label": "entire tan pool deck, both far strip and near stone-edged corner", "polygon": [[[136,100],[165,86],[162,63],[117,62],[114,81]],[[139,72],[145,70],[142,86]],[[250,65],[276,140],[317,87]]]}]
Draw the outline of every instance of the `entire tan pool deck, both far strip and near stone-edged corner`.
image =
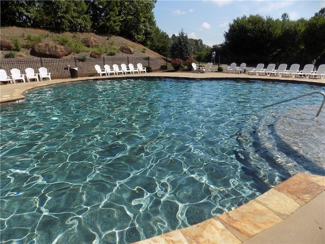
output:
[{"label": "entire tan pool deck, both far strip and near stone-edged corner", "polygon": [[[0,86],[0,102],[23,100],[23,93],[27,90],[50,84],[126,77],[236,78],[325,85],[325,79],[213,72],[207,74],[166,72],[3,84]],[[136,243],[325,243],[324,191],[325,176],[297,173],[263,195],[234,210],[197,225]]]}]

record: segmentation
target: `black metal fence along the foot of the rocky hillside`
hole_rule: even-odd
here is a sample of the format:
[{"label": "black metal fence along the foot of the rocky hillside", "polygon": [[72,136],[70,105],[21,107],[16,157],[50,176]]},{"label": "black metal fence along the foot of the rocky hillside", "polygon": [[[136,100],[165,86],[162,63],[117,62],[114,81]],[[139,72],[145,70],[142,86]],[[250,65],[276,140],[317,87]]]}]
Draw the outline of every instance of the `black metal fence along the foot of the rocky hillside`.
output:
[{"label": "black metal fence along the foot of the rocky hillside", "polygon": [[[6,70],[7,75],[10,75],[10,70],[13,68],[19,69],[22,74],[25,73],[26,68],[32,68],[35,73],[38,73],[39,68],[45,67],[51,73],[52,79],[70,78],[69,70],[65,69],[67,66],[77,67],[78,75],[80,77],[95,76],[97,72],[95,65],[100,65],[104,69],[104,65],[110,65],[111,69],[114,64],[120,66],[121,64],[133,64],[135,67],[141,63],[143,67],[150,67],[151,70],[158,71],[161,66],[171,67],[167,58],[153,58],[153,57],[102,57],[102,58],[86,58],[79,60],[77,58],[2,58],[0,60],[0,68]],[[148,70],[148,69],[147,69]]]}]

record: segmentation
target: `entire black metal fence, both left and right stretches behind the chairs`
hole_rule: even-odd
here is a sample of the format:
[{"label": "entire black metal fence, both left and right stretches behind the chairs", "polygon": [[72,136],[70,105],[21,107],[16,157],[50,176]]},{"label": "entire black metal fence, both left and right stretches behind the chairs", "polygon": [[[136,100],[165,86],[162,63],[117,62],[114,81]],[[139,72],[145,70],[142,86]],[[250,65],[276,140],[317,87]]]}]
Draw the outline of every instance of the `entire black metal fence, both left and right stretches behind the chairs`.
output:
[{"label": "entire black metal fence, both left and right stretches behind the chairs", "polygon": [[[46,67],[48,72],[51,73],[51,77],[53,79],[64,79],[70,78],[70,72],[67,66],[70,67],[77,67],[78,68],[78,75],[79,77],[86,77],[86,76],[96,76],[97,72],[94,69],[95,65],[100,65],[102,69],[104,69],[104,65],[110,65],[111,69],[113,64],[121,65],[121,64],[133,64],[135,67],[138,63],[141,63],[143,67],[150,67],[153,72],[163,71],[161,68],[164,69],[173,69],[170,63],[170,58],[154,58],[154,57],[132,57],[132,56],[125,56],[125,57],[113,57],[107,56],[102,58],[86,58],[85,60],[80,60],[78,58],[63,58],[63,59],[56,59],[56,58],[30,58],[30,59],[20,59],[20,58],[2,58],[0,60],[0,68],[6,70],[7,74],[10,75],[10,70],[13,68],[17,68],[21,71],[22,74],[25,73],[26,68],[32,68],[38,73],[38,69],[40,67]],[[205,60],[196,62],[198,65],[205,65],[207,62],[211,60]],[[246,63],[246,71],[250,71],[256,67],[258,63],[264,63],[265,67],[270,64],[276,64],[276,67],[281,63],[286,63],[288,68],[291,64],[297,63],[300,64],[300,68],[302,69],[306,64],[312,64],[313,60],[290,60],[291,62],[285,62],[283,60],[278,60],[269,57],[250,57],[247,60],[244,56],[216,56],[215,60],[213,60],[213,67],[211,69],[212,72],[216,72],[218,67],[223,68],[223,72],[227,70],[229,65],[233,62],[240,66],[241,63]],[[315,60],[315,69],[321,64],[325,64],[325,59],[316,59]],[[149,69],[147,69],[149,70]]]}]

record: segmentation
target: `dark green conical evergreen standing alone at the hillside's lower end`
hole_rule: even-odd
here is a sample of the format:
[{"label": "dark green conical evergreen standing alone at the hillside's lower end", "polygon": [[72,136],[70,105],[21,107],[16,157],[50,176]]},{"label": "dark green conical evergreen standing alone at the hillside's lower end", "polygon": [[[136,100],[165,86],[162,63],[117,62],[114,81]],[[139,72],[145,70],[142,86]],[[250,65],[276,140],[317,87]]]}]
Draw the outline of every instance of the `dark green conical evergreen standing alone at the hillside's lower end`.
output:
[{"label": "dark green conical evergreen standing alone at the hillside's lower end", "polygon": [[190,43],[183,29],[181,29],[178,36],[172,36],[172,45],[170,52],[172,58],[181,58],[185,60],[186,58],[190,57]]}]

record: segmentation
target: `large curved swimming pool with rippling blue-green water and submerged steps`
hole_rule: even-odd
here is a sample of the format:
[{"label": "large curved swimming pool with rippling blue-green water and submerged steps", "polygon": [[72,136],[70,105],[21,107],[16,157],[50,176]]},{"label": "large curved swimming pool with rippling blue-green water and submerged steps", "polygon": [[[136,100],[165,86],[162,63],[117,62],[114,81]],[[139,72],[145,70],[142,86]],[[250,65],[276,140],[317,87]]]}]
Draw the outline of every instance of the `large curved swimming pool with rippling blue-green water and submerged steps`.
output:
[{"label": "large curved swimming pool with rippling blue-green water and submerged steps", "polygon": [[[124,243],[233,209],[295,172],[325,175],[323,87],[100,80],[1,105],[1,241]],[[302,127],[303,126],[303,127]]]}]

